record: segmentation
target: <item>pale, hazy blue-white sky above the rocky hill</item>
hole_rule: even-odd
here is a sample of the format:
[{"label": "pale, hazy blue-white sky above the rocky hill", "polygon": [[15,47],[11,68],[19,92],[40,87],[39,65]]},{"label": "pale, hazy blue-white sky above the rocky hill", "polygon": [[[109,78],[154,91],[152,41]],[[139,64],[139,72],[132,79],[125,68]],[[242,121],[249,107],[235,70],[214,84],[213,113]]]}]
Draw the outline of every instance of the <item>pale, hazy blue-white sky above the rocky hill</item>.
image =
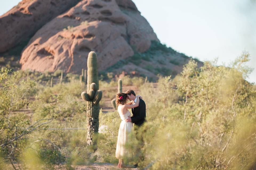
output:
[{"label": "pale, hazy blue-white sky above the rocky hill", "polygon": [[[21,0],[0,2],[0,15]],[[228,65],[243,51],[256,83],[256,0],[133,0],[161,43],[201,61]]]}]

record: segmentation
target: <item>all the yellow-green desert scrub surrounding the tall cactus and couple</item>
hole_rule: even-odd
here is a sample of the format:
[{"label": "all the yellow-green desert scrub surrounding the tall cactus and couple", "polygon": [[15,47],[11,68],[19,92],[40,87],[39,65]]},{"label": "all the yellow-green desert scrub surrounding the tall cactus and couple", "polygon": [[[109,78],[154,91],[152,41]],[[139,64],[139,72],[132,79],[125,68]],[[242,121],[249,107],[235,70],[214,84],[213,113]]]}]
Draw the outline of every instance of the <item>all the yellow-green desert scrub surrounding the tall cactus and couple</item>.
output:
[{"label": "all the yellow-green desert scrub surrounding the tall cactus and couple", "polygon": [[[147,123],[140,132],[146,157],[139,166],[256,169],[256,89],[245,80],[251,72],[247,61],[246,52],[229,67],[213,61],[198,68],[190,60],[174,79],[160,77],[157,87],[143,78],[125,77],[124,84],[138,86],[147,105]],[[21,71],[8,72],[2,69],[0,73],[0,168],[8,161],[27,169],[53,169],[59,163],[66,169],[94,162],[118,163],[119,115],[100,112],[94,152],[96,146],[86,145],[86,103],[80,100],[85,87],[74,76],[49,88],[29,77],[22,79]],[[100,82],[101,88],[115,84]],[[81,129],[56,130],[67,127]],[[136,144],[134,138],[127,144],[132,155],[125,160],[127,164],[139,160]]]}]

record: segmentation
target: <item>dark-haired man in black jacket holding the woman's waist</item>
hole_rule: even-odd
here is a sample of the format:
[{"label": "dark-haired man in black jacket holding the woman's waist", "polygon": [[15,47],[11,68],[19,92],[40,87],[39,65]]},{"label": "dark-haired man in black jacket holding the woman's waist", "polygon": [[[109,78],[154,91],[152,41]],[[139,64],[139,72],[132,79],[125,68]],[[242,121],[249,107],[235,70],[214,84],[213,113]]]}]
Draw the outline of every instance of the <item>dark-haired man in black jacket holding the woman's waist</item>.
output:
[{"label": "dark-haired man in black jacket holding the woman's waist", "polygon": [[[128,90],[125,92],[130,101],[136,102],[137,98],[135,92],[133,90]],[[143,139],[143,135],[139,134],[139,131],[142,130],[141,126],[146,121],[146,104],[142,99],[139,99],[139,106],[131,109],[133,116],[126,119],[126,122],[134,123],[134,133],[135,138],[137,139],[139,146],[137,146],[137,153],[139,154],[139,158],[141,161],[145,158],[145,142]],[[135,166],[138,166],[135,164]]]}]

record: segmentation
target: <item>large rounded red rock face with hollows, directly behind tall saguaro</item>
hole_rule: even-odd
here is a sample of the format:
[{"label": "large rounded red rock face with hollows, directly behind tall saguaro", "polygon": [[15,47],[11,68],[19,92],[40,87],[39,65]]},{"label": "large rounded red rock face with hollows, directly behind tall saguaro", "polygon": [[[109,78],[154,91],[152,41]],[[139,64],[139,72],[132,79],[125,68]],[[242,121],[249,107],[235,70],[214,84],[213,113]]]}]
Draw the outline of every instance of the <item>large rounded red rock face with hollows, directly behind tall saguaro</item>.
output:
[{"label": "large rounded red rock face with hollows, directly behind tall saguaro", "polygon": [[83,0],[35,33],[22,52],[22,69],[80,73],[90,51],[104,70],[159,41],[131,0]]}]

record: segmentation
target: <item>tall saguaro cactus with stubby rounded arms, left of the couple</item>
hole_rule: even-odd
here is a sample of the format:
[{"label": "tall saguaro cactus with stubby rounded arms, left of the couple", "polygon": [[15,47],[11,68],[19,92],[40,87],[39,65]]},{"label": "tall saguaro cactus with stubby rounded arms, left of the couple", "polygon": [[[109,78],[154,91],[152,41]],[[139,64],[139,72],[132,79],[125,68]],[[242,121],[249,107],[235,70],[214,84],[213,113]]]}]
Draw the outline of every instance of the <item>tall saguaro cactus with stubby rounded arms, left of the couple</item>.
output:
[{"label": "tall saguaro cactus with stubby rounded arms, left of the couple", "polygon": [[90,52],[87,59],[87,92],[82,98],[87,101],[87,144],[94,144],[93,135],[99,129],[99,101],[102,91],[99,90],[98,64],[95,52]]}]

